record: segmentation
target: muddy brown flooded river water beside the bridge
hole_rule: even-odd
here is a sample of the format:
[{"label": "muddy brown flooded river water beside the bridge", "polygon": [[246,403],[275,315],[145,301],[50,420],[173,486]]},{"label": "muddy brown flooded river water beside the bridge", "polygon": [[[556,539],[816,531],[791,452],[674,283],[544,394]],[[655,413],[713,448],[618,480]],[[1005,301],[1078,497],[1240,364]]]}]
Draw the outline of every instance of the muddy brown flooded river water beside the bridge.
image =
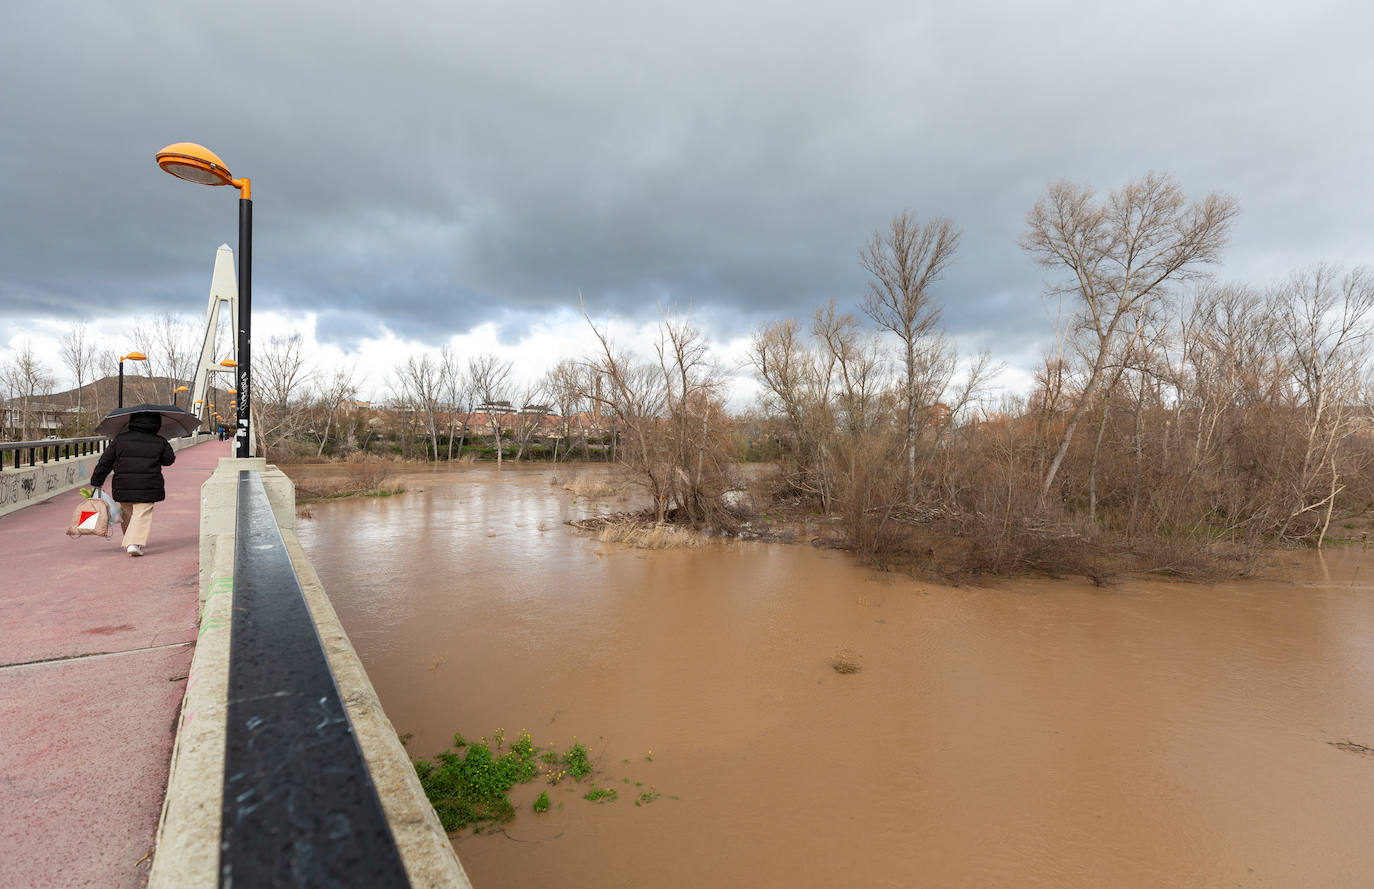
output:
[{"label": "muddy brown flooded river water beside the bridge", "polygon": [[1374,886],[1370,552],[951,588],[603,544],[563,522],[606,500],[550,477],[409,475],[298,522],[412,754],[576,736],[620,790],[534,815],[517,787],[504,830],[453,837],[478,889]]}]

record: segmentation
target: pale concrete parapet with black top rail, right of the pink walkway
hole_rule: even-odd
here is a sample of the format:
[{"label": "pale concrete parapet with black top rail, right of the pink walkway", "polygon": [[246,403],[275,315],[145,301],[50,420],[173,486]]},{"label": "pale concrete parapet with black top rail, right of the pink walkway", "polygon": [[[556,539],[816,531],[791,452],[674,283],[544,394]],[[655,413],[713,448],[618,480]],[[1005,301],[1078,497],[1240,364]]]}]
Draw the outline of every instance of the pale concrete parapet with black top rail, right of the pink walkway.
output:
[{"label": "pale concrete parapet with black top rail, right of the pink walkway", "polygon": [[148,886],[469,888],[261,458],[201,489],[199,614]]}]

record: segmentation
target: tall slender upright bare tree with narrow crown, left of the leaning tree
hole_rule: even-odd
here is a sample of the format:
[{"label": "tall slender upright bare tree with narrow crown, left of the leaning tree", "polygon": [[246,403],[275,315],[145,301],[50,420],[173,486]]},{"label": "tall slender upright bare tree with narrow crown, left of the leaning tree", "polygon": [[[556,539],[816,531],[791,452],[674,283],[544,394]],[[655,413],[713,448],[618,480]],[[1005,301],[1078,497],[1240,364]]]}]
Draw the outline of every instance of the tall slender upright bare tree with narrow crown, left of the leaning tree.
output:
[{"label": "tall slender upright bare tree with narrow crown, left of the leaning tree", "polygon": [[905,492],[916,500],[916,422],[932,404],[932,378],[944,372],[945,346],[937,338],[940,309],[932,302],[930,284],[940,280],[954,261],[959,229],[944,217],[922,225],[904,210],[885,232],[874,232],[860,251],[864,269],[872,276],[864,298],[864,312],[900,341],[904,371],[901,397],[905,407]]}]

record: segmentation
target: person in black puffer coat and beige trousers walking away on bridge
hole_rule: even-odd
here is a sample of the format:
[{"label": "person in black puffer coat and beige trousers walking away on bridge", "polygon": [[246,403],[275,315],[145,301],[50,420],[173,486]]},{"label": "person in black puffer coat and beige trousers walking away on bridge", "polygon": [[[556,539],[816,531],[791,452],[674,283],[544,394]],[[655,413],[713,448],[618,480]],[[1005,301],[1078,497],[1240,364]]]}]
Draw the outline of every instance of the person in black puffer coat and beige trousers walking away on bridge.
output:
[{"label": "person in black puffer coat and beige trousers walking away on bridge", "polygon": [[91,473],[92,488],[100,488],[114,473],[110,495],[124,511],[120,522],[124,540],[120,545],[129,555],[143,555],[153,530],[153,504],[168,496],[162,467],[176,462],[176,452],[158,434],[161,427],[161,415],[153,411],[135,414],[129,418],[129,427],[114,437]]}]

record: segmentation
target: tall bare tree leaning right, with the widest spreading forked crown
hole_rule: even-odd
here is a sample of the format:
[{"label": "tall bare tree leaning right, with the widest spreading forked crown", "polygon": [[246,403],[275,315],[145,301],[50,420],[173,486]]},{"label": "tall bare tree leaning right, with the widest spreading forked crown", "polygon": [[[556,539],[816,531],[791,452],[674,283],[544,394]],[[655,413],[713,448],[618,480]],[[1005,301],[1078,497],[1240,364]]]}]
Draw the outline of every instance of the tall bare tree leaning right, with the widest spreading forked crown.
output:
[{"label": "tall bare tree leaning right, with the widest spreading forked crown", "polygon": [[1105,202],[1091,188],[1058,181],[1032,207],[1021,246],[1041,265],[1070,272],[1069,283],[1057,290],[1079,302],[1074,333],[1088,364],[1046,469],[1041,499],[1054,485],[1112,356],[1121,355],[1123,338],[1139,330],[1136,317],[1171,283],[1200,273],[1200,265],[1220,256],[1235,213],[1235,201],[1219,194],[1187,203],[1179,184],[1160,173],[1127,183]]}]

